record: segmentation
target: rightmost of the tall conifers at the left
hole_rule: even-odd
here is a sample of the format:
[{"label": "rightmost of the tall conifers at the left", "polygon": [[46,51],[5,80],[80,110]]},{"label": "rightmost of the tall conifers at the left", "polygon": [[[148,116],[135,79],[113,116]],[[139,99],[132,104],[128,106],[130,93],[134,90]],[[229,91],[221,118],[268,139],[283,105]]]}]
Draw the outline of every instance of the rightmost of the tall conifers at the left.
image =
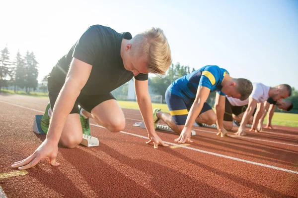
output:
[{"label": "rightmost of the tall conifers at the left", "polygon": [[38,86],[38,62],[35,59],[33,51],[29,53],[26,52],[25,56],[25,65],[26,65],[26,78],[25,78],[25,87],[26,92],[30,94],[30,88],[33,88],[35,91]]}]

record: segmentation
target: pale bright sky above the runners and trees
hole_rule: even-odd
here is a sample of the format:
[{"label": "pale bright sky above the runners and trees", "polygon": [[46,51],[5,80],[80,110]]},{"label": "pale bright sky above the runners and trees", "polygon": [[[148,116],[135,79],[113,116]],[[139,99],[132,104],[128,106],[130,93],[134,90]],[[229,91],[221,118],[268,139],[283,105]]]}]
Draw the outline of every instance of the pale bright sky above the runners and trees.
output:
[{"label": "pale bright sky above the runners and trees", "polygon": [[6,0],[0,49],[33,51],[39,81],[91,25],[133,36],[163,29],[173,63],[298,88],[298,0]]}]

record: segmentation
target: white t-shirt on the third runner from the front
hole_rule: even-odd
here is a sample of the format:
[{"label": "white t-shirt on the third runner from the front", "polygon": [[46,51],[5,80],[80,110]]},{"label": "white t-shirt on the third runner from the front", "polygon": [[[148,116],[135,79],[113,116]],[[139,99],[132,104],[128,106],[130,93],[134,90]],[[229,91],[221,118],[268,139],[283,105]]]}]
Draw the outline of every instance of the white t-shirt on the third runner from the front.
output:
[{"label": "white t-shirt on the third runner from the front", "polygon": [[[262,84],[262,83],[253,83],[252,84],[252,92],[250,94],[249,98],[256,99],[258,102],[265,102],[267,99],[269,99],[269,90],[270,87]],[[248,99],[240,100],[240,99],[234,99],[232,97],[227,97],[227,100],[231,103],[232,106],[243,106],[248,104]]]}]

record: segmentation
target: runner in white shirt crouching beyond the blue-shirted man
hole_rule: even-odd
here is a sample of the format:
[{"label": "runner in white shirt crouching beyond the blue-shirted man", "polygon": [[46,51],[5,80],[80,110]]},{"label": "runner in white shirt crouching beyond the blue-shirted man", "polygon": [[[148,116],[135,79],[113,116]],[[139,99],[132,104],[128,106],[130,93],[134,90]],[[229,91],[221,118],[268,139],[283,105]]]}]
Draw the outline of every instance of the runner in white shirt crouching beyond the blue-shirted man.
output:
[{"label": "runner in white shirt crouching beyond the blue-shirted man", "polygon": [[[257,130],[256,130],[257,121],[256,120],[260,119],[262,112],[263,112],[263,108],[264,108],[264,105],[261,105],[261,104],[263,104],[269,97],[271,97],[274,100],[279,100],[279,99],[286,99],[289,96],[291,96],[291,94],[292,94],[292,88],[291,88],[291,86],[289,86],[287,84],[278,85],[276,87],[268,87],[262,83],[253,83],[252,93],[249,96],[249,98],[246,99],[246,100],[248,100],[248,107],[245,110],[241,124],[238,128],[238,131],[235,134],[239,135],[239,136],[245,135],[246,124],[247,124],[249,118],[251,117],[254,109],[256,108],[257,104],[258,104],[258,108],[254,115],[253,124],[251,127],[251,130],[255,130],[255,132],[257,132]],[[235,99],[233,99],[233,100],[235,100]],[[246,101],[246,100],[244,100],[244,101]],[[237,101],[234,101],[234,104],[241,104],[240,102],[244,103],[244,101],[237,100]],[[231,100],[231,102],[233,102],[233,101]]]}]

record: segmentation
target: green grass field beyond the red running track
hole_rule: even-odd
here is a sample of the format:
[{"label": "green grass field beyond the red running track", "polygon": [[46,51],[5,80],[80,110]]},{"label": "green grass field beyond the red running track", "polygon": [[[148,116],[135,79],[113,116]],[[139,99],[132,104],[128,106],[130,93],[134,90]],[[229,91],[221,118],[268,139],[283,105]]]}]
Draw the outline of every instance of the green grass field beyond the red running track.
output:
[{"label": "green grass field beyond the red running track", "polygon": [[[1,90],[1,92],[6,94],[15,94],[13,90]],[[17,94],[31,97],[48,98],[48,93],[41,92],[30,92],[30,94],[27,94],[26,92],[18,91]],[[122,108],[139,109],[138,103],[135,101],[118,102]],[[152,103],[152,108],[161,108],[163,112],[169,113],[169,109],[166,104]],[[267,123],[267,117],[265,117],[264,123]],[[272,118],[272,124],[298,127],[298,114],[275,112]]]}]

